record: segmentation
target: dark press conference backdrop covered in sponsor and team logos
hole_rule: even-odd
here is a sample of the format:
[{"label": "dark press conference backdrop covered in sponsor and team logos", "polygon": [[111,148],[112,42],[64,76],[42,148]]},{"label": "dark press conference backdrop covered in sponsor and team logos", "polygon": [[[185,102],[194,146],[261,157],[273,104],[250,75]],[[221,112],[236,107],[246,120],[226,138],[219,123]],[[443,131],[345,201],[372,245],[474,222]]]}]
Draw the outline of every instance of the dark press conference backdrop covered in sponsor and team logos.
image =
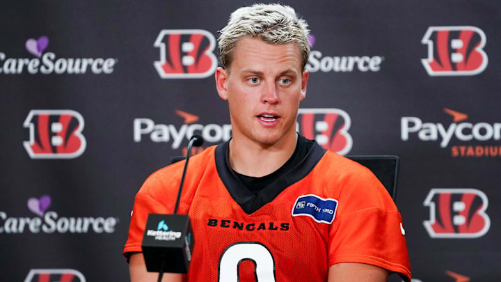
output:
[{"label": "dark press conference backdrop covered in sponsor and team logos", "polygon": [[[250,3],[1,3],[1,281],[127,281],[142,182],[230,139],[215,40]],[[283,3],[311,29],[299,132],[399,155],[415,281],[499,281],[501,3]]]}]

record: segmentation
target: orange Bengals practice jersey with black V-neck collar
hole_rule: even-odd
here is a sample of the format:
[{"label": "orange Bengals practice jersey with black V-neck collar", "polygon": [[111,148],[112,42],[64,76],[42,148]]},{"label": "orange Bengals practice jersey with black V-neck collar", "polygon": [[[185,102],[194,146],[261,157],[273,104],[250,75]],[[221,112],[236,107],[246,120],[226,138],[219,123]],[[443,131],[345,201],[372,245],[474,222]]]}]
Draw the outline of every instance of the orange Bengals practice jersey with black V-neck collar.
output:
[{"label": "orange Bengals practice jersey with black V-neck collar", "polygon": [[[184,161],[136,194],[125,256],[141,252],[149,213],[172,213]],[[234,175],[228,143],[190,159],[179,211],[195,245],[184,281],[327,281],[336,263],[366,263],[411,279],[401,216],[364,166],[315,143],[257,195]]]}]

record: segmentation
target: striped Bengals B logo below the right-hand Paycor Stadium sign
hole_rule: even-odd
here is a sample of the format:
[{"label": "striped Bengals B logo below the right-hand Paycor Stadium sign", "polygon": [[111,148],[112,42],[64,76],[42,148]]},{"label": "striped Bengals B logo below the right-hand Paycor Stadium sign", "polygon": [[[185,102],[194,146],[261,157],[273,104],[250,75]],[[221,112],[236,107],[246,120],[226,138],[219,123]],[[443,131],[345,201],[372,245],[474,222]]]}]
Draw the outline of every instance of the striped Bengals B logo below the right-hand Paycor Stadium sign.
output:
[{"label": "striped Bengals B logo below the right-hand Paycor Stadium sign", "polygon": [[491,227],[488,198],[478,189],[434,188],[423,205],[430,209],[423,224],[432,238],[477,238]]}]

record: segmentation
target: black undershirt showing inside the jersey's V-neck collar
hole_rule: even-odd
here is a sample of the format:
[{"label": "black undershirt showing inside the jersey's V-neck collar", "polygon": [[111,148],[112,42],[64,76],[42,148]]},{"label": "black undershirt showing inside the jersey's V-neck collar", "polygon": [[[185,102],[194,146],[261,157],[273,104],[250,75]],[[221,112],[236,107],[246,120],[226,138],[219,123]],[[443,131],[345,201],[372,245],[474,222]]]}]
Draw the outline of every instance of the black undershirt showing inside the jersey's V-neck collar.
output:
[{"label": "black undershirt showing inside the jersey's V-neck collar", "polygon": [[305,139],[303,136],[298,134],[298,139],[296,143],[296,149],[292,153],[292,156],[276,171],[270,173],[269,175],[264,175],[260,178],[255,178],[252,176],[243,175],[234,171],[234,174],[237,175],[239,180],[244,183],[244,185],[251,191],[254,195],[257,195],[261,189],[267,187],[271,184],[271,182],[275,181],[277,178],[280,178],[284,173],[292,169],[296,164],[299,164],[306,155],[308,155],[308,151],[313,146],[315,141]]}]

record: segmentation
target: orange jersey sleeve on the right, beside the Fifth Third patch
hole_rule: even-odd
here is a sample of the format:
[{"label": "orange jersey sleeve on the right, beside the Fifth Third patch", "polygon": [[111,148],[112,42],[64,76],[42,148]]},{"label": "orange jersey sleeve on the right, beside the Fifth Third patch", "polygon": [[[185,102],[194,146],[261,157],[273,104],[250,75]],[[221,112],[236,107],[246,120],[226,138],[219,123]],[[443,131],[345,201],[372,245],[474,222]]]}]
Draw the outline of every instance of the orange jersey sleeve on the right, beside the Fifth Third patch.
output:
[{"label": "orange jersey sleeve on the right, beside the Fifth Third patch", "polygon": [[401,215],[390,194],[369,169],[346,175],[335,221],[329,230],[329,266],[366,263],[411,280]]}]

